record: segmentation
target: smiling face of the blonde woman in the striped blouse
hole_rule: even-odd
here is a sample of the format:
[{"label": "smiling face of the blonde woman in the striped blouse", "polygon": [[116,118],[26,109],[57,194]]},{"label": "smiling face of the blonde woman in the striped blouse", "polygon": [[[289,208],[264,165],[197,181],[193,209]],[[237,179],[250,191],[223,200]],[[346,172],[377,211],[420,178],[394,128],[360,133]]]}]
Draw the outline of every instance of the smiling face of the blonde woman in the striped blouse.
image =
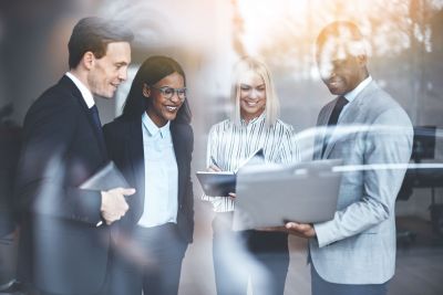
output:
[{"label": "smiling face of the blonde woman in the striped blouse", "polygon": [[240,75],[239,99],[240,115],[246,122],[249,122],[265,110],[266,106],[266,85],[265,81],[256,72],[248,71]]}]

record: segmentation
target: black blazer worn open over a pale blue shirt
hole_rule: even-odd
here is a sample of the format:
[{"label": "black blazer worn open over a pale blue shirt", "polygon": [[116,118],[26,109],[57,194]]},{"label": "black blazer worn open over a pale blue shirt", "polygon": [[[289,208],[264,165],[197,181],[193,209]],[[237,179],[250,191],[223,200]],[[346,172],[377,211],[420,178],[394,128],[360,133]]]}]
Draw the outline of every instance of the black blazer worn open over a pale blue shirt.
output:
[{"label": "black blazer worn open over a pale blue shirt", "polygon": [[[130,210],[120,221],[120,230],[128,234],[137,224],[144,209],[145,168],[142,117],[119,117],[103,127],[110,158],[122,170],[136,193],[127,198]],[[194,194],[190,181],[190,160],[194,134],[190,125],[171,123],[171,133],[178,167],[177,226],[185,242],[193,241]]]}]

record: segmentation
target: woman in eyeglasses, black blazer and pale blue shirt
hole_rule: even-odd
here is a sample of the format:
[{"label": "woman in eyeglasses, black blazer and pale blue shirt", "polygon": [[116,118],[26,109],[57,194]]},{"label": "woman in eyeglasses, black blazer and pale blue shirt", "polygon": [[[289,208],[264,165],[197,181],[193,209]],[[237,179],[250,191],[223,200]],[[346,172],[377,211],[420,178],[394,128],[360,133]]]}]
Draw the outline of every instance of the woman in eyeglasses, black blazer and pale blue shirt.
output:
[{"label": "woman in eyeglasses, black blazer and pale blue shirt", "polygon": [[138,69],[123,114],[104,126],[110,158],[136,193],[113,230],[110,294],[177,294],[193,240],[194,145],[182,66],[151,56]]}]

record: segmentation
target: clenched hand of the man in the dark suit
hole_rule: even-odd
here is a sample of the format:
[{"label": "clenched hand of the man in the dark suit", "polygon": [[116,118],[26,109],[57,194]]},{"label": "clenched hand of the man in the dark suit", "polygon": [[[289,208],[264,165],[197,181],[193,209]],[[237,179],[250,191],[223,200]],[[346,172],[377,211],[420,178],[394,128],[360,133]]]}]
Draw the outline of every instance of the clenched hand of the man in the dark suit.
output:
[{"label": "clenched hand of the man in the dark suit", "polygon": [[120,220],[126,213],[130,207],[124,197],[134,193],[135,189],[123,188],[102,191],[102,207],[100,208],[100,211],[102,212],[102,217],[107,225]]}]

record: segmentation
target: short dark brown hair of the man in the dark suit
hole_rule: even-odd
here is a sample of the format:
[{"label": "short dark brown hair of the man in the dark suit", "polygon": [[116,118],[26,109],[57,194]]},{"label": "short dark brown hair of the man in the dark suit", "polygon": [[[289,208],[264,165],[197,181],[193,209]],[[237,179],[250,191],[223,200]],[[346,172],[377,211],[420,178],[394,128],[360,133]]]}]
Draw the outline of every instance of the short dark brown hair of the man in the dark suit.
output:
[{"label": "short dark brown hair of the man in the dark suit", "polygon": [[96,59],[101,59],[106,54],[109,43],[131,43],[133,40],[133,32],[120,21],[97,17],[81,19],[72,30],[68,43],[69,66],[76,67],[87,51],[91,51]]}]

